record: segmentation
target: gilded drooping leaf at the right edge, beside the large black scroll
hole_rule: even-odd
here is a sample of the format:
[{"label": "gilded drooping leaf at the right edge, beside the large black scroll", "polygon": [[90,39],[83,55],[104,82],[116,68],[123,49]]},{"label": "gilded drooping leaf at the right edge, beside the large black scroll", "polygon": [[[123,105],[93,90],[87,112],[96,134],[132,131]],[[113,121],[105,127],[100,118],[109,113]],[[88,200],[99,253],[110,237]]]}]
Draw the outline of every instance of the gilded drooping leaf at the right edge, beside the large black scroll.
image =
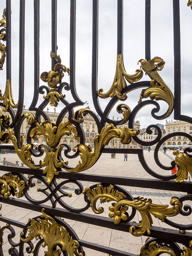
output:
[{"label": "gilded drooping leaf at the right edge, beside the large black scroll", "polygon": [[179,170],[176,172],[176,182],[181,183],[188,179],[188,172],[192,175],[192,158],[186,153],[179,153],[178,150],[173,152],[175,156],[175,163],[179,166]]}]

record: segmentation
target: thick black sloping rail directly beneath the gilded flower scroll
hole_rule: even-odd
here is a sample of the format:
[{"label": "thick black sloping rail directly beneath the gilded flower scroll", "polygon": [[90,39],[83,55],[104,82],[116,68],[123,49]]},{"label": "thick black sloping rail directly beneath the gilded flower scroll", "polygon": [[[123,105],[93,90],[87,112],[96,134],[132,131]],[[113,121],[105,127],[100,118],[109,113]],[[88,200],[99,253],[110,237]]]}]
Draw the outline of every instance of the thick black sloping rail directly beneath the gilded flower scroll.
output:
[{"label": "thick black sloping rail directly beneath the gilded flower scroll", "polygon": [[[107,217],[103,217],[103,216],[96,217],[95,215],[86,214],[86,213],[78,214],[74,212],[69,212],[68,210],[61,209],[61,208],[52,208],[51,206],[47,206],[44,204],[34,205],[22,199],[20,200],[17,200],[15,198],[5,199],[4,197],[0,197],[0,202],[18,206],[28,210],[35,210],[36,212],[42,212],[42,208],[45,208],[46,209],[45,213],[48,215],[58,216],[61,218],[89,223],[92,225],[102,226],[105,228],[120,230],[124,232],[129,232],[130,226],[135,226],[137,228],[137,224],[138,224],[136,222],[127,222],[127,223],[120,223],[116,225],[113,223],[112,219]],[[149,236],[149,234],[145,233],[144,236]],[[186,245],[191,240],[191,232],[180,234],[178,230],[151,226],[150,237],[167,240],[170,242],[178,242],[180,244]]]}]

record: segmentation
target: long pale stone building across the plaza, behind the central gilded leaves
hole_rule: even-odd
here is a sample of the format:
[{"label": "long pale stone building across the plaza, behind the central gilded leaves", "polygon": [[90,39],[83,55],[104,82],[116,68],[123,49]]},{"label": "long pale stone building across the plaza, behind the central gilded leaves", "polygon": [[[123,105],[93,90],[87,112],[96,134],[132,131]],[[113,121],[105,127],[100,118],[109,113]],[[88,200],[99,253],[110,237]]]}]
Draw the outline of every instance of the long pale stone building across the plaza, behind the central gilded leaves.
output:
[{"label": "long pale stone building across the plaza, behind the central gilded leaves", "polygon": [[[17,109],[14,109],[14,111],[16,112]],[[28,109],[25,108],[25,106],[23,107],[23,113],[32,113],[35,114],[35,111],[29,111]],[[6,113],[8,114],[8,113]],[[54,108],[54,112],[49,112],[48,108],[47,108],[47,112],[46,114],[49,116],[50,121],[51,122],[56,122],[56,119],[58,118],[58,115],[60,113],[56,112],[56,108]],[[68,119],[68,114],[66,114],[63,118],[63,122],[66,121]],[[41,122],[44,122],[45,120],[42,118]],[[94,138],[95,135],[98,133],[98,129],[96,126],[96,122],[94,121],[94,119],[92,118],[92,116],[90,114],[87,114],[86,116],[84,116],[84,122],[81,124],[83,130],[84,130],[84,134],[85,134],[85,144],[88,146],[90,145],[92,147],[92,150],[94,149]],[[121,126],[118,126],[119,128],[124,128],[124,127],[128,127],[128,123],[123,124]],[[27,143],[27,133],[29,130],[30,126],[28,125],[28,119],[24,119],[22,126],[21,126],[21,135],[24,138],[24,142]],[[134,128],[136,128],[137,130],[139,130],[140,128],[140,123],[139,121],[134,122]],[[46,144],[46,141],[44,139],[44,136],[39,136],[38,140],[33,140],[32,139],[32,143],[38,145],[38,144]],[[68,144],[71,146],[71,148],[73,148],[75,145],[80,143],[80,140],[76,140],[72,135],[70,136],[63,136],[60,144]],[[111,140],[109,142],[108,145],[106,145],[106,148],[113,148],[113,143],[114,143],[114,148],[130,148],[130,146],[132,146],[132,148],[139,148],[139,144],[136,143],[134,140],[132,140],[132,142],[128,145],[122,144],[120,142],[119,138],[114,138],[113,140]]]}]

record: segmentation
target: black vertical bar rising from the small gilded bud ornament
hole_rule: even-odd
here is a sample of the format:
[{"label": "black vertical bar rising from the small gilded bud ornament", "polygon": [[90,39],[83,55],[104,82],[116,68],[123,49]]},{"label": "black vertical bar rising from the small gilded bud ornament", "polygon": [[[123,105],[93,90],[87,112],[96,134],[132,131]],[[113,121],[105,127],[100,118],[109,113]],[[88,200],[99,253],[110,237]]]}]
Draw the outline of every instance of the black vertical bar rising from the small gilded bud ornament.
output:
[{"label": "black vertical bar rising from the small gilded bud ornament", "polygon": [[[57,54],[57,0],[51,1],[51,51]],[[56,59],[51,59],[52,70],[56,64]]]}]

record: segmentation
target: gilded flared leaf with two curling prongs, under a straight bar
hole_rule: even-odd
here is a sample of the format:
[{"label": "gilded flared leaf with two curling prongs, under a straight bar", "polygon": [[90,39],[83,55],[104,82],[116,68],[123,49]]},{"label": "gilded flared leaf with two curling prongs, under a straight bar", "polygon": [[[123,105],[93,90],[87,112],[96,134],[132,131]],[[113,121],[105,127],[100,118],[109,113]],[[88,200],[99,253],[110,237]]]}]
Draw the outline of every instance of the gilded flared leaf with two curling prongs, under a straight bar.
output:
[{"label": "gilded flared leaf with two curling prongs, under a straight bar", "polygon": [[115,77],[112,83],[111,88],[108,90],[108,92],[103,93],[103,89],[98,90],[98,96],[102,99],[106,99],[109,97],[113,97],[116,95],[119,99],[126,99],[126,93],[122,94],[122,90],[126,88],[127,82],[130,84],[133,84],[134,82],[139,81],[143,76],[143,72],[141,69],[137,69],[136,73],[134,75],[128,75],[125,71],[124,64],[123,64],[123,56],[122,54],[117,55],[117,64],[116,64],[116,72]]}]

